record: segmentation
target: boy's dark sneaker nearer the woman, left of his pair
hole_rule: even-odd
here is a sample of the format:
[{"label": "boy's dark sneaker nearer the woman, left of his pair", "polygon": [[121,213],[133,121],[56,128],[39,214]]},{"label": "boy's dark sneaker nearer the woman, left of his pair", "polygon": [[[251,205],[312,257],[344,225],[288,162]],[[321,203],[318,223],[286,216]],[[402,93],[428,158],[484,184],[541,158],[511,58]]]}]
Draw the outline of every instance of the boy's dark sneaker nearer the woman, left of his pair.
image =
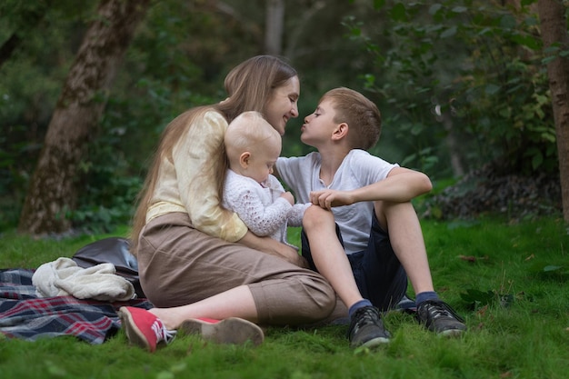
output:
[{"label": "boy's dark sneaker nearer the woman, left of his pair", "polygon": [[386,344],[390,336],[384,328],[384,322],[377,308],[364,306],[355,311],[348,332],[351,347],[374,347]]}]

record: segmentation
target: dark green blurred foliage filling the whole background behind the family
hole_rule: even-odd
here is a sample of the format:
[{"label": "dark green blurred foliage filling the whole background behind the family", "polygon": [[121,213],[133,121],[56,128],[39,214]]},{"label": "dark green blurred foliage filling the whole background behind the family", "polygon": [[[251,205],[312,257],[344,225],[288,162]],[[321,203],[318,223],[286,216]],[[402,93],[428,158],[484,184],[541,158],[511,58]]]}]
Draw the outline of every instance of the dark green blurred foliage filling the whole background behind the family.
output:
[{"label": "dark green blurred foliage filling the whole background behind the family", "polygon": [[[165,125],[188,107],[222,100],[229,69],[263,53],[265,8],[246,0],[214,3],[152,2],[102,98],[105,114],[77,177],[81,198],[68,214],[75,227],[103,231],[125,222]],[[524,174],[555,170],[544,64],[549,55],[567,52],[553,46],[541,56],[532,3],[514,9],[480,0],[325,6],[287,0],[283,55],[299,71],[302,95],[283,154],[311,151],[299,142],[304,115],[324,91],[344,85],[382,111],[384,129],[372,153],[434,180],[455,175],[451,156],[469,169],[501,159]],[[17,223],[55,102],[96,5],[0,2],[0,44],[20,37],[0,65],[0,228]],[[293,16],[292,9],[303,12]],[[448,144],[450,136],[458,149]]]}]

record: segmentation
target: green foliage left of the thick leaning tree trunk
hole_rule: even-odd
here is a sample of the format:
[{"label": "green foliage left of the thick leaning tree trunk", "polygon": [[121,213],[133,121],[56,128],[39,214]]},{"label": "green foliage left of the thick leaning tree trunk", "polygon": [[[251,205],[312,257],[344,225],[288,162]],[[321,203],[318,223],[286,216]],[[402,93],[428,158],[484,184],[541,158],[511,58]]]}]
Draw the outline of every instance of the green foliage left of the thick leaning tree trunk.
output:
[{"label": "green foliage left of the thick leaning tree trunk", "polygon": [[94,5],[0,2],[0,43],[14,35],[18,41],[0,65],[0,230],[17,224],[49,119]]}]

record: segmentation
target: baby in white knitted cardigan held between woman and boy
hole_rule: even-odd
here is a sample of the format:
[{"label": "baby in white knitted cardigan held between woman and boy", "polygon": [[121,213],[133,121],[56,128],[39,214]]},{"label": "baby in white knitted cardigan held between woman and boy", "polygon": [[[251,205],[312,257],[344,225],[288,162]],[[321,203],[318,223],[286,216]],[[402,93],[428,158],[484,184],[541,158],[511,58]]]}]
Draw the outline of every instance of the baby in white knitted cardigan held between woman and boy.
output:
[{"label": "baby in white knitted cardigan held between woman and boy", "polygon": [[281,135],[263,115],[245,112],[228,125],[224,143],[229,169],[223,206],[238,214],[251,232],[288,244],[286,226],[300,226],[310,204],[294,204],[293,194],[284,192],[271,175],[281,155]]}]

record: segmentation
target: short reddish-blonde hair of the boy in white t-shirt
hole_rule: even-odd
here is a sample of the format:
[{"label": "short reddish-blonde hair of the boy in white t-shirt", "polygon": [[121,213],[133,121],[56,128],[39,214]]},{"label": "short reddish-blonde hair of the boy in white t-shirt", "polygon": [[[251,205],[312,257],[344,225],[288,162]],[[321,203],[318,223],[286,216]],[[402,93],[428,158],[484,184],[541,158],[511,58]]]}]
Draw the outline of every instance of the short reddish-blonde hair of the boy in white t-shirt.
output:
[{"label": "short reddish-blonde hair of the boy in white t-shirt", "polygon": [[381,114],[377,105],[346,87],[326,92],[320,102],[324,100],[332,101],[334,123],[346,123],[349,126],[348,140],[353,149],[369,150],[374,147],[381,135]]}]

